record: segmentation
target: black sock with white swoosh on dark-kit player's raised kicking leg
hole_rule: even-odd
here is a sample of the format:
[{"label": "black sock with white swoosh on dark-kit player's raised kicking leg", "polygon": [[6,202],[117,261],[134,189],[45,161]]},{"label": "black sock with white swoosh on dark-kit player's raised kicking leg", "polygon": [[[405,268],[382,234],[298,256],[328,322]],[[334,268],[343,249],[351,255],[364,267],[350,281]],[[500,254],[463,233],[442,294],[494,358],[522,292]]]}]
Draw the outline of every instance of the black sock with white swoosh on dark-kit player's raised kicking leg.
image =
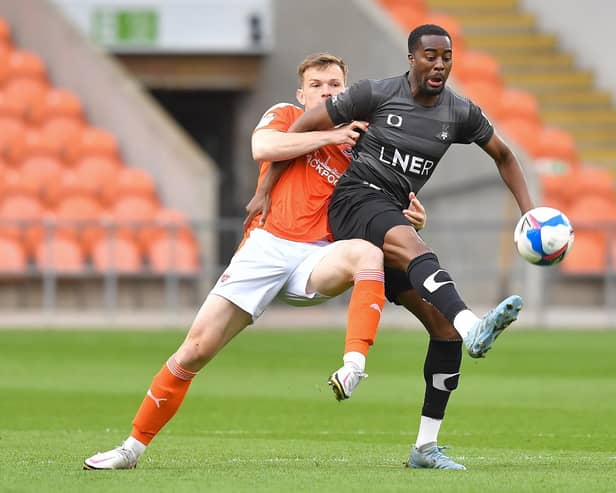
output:
[{"label": "black sock with white swoosh on dark-kit player's raised kicking leg", "polygon": [[467,308],[449,273],[442,269],[433,253],[411,260],[406,275],[415,291],[432,304],[453,325],[453,319]]}]

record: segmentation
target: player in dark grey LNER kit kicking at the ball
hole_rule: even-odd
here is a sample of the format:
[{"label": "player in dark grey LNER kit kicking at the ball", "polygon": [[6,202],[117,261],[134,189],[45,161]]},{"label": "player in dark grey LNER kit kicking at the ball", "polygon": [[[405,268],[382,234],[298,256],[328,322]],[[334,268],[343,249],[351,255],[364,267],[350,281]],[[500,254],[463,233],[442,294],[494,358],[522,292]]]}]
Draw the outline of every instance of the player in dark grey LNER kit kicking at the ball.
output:
[{"label": "player in dark grey LNER kit kicking at the ball", "polygon": [[479,319],[401,210],[454,143],[476,143],[494,159],[522,213],[533,204],[520,164],[480,108],[445,86],[452,67],[447,31],[419,26],[409,35],[408,49],[408,73],[360,81],[307,111],[290,131],[369,122],[334,190],[330,227],[337,240],[363,238],[383,249],[388,299],[414,313],[430,334],[424,405],[408,466],[465,469],[437,445],[449,396],[458,385],[462,343],[472,357],[482,357],[517,318],[522,300],[510,296]]}]

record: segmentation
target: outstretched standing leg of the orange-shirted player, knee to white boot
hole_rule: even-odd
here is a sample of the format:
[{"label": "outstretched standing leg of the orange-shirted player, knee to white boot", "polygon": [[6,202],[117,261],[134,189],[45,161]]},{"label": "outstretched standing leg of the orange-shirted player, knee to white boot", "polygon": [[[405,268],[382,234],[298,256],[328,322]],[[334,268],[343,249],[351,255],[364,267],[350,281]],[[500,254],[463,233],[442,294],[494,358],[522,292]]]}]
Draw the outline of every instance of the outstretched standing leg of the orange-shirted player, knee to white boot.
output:
[{"label": "outstretched standing leg of the orange-shirted player, knee to white boot", "polygon": [[209,295],[178,350],[156,374],[123,444],[84,461],[84,469],[133,469],[146,447],[175,415],[192,379],[233,337],[251,316],[217,295]]}]

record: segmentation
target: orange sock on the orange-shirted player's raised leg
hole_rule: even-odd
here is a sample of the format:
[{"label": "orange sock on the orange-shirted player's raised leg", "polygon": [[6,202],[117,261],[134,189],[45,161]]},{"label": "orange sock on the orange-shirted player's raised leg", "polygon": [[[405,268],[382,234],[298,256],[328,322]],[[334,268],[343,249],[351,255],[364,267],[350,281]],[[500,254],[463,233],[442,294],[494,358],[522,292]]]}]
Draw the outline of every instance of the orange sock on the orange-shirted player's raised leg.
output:
[{"label": "orange sock on the orange-shirted player's raised leg", "polygon": [[366,356],[374,343],[385,304],[385,276],[382,270],[366,269],[355,274],[355,285],[347,320],[344,352]]}]

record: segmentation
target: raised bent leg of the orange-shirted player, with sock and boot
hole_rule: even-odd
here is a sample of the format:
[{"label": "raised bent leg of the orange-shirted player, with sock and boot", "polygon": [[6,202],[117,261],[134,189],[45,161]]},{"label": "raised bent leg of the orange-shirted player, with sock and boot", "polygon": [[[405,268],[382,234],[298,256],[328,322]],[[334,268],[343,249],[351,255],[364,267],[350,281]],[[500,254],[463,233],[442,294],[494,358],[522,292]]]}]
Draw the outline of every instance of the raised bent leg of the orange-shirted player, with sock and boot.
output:
[{"label": "raised bent leg of the orange-shirted player, with sock and boot", "polygon": [[374,343],[385,302],[383,252],[363,240],[334,244],[308,281],[309,291],[336,296],[354,284],[349,303],[343,366],[329,378],[337,400],[351,397],[365,377],[366,355]]}]

